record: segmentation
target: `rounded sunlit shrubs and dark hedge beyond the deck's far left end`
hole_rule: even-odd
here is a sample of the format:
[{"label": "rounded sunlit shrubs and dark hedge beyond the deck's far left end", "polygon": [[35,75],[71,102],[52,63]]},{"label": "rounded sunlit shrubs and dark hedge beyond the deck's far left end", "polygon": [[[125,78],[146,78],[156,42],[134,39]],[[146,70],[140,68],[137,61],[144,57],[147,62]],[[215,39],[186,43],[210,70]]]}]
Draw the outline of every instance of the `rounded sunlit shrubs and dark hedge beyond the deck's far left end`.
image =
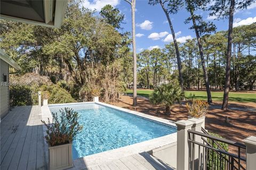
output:
[{"label": "rounded sunlit shrubs and dark hedge beyond the deck's far left end", "polygon": [[53,84],[46,76],[27,73],[23,76],[11,76],[10,82],[30,84],[30,86],[10,86],[12,106],[37,104],[39,91],[42,92],[42,99],[48,99],[49,104],[75,102],[65,88]]}]

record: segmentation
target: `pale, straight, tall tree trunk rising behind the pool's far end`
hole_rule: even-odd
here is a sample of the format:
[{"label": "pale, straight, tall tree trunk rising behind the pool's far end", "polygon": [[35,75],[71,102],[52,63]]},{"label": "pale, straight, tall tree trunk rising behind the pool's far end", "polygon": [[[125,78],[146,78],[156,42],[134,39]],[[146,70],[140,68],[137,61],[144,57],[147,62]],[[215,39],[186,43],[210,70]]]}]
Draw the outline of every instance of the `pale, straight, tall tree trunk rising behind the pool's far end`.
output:
[{"label": "pale, straight, tall tree trunk rising behind the pool's far end", "polygon": [[124,0],[131,5],[132,10],[132,55],[133,55],[133,106],[137,106],[137,57],[135,43],[135,4],[136,0]]}]

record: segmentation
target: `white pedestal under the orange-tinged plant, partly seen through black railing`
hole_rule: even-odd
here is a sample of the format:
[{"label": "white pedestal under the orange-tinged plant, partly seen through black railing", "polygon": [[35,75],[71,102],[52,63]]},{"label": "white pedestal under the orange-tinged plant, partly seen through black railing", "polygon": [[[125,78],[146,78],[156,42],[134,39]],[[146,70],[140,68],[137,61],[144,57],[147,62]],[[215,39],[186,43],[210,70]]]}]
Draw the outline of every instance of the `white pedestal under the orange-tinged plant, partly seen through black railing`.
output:
[{"label": "white pedestal under the orange-tinged plant, partly seen through black railing", "polygon": [[[202,132],[202,125],[204,124],[204,119],[198,119],[198,118],[192,118],[192,119],[188,119],[190,122],[193,123],[191,129],[193,131],[197,131],[197,132]],[[195,135],[195,139],[194,141],[202,143],[202,139],[201,136],[199,135]],[[198,164],[202,163],[202,160],[199,160],[200,158],[203,158],[203,150],[201,151],[201,157],[199,156],[198,153],[199,150],[199,145],[195,144],[194,145],[194,169],[198,168]],[[203,169],[202,167],[203,165],[200,165],[200,169]]]}]

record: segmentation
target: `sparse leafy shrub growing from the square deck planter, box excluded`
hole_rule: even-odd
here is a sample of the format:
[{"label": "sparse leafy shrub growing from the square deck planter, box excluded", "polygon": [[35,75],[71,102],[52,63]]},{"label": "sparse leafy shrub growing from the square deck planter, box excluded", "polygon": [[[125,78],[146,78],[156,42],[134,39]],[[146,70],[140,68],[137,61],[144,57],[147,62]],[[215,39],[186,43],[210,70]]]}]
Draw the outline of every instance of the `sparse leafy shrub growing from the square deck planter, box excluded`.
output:
[{"label": "sparse leafy shrub growing from the square deck planter, box excluded", "polygon": [[78,112],[65,108],[60,110],[60,114],[52,113],[52,123],[48,118],[48,123],[41,120],[46,126],[46,141],[53,147],[73,141],[83,126],[78,123]]}]

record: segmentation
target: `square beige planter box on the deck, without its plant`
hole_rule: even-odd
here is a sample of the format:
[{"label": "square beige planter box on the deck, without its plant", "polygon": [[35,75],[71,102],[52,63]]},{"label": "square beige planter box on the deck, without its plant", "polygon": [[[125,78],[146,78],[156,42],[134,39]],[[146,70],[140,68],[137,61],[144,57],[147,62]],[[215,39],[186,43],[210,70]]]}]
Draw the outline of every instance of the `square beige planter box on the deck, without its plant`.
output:
[{"label": "square beige planter box on the deck, without its plant", "polygon": [[50,170],[62,170],[73,167],[72,142],[55,147],[49,146],[49,166]]}]

